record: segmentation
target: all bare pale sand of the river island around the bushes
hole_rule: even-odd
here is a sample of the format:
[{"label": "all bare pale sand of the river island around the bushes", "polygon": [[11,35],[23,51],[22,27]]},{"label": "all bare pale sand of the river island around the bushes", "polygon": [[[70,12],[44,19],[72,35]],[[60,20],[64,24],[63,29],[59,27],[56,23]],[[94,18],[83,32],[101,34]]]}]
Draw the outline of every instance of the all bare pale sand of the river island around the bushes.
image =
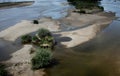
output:
[{"label": "all bare pale sand of the river island around the bushes", "polygon": [[[35,32],[39,28],[47,28],[53,33],[53,36],[58,41],[58,45],[60,44],[66,46],[66,48],[70,48],[94,38],[113,19],[115,19],[113,13],[78,14],[70,12],[69,16],[59,20],[42,18],[39,20],[39,24],[33,24],[32,21],[23,20],[0,32],[0,41],[12,42],[8,44],[3,41],[0,43],[0,47],[5,47],[8,44],[7,48],[9,49],[11,48],[10,45],[13,43],[15,45],[16,40],[22,35]],[[68,30],[62,31],[61,27],[63,24],[68,27]],[[76,28],[70,30],[69,27]],[[64,38],[69,40],[64,40]],[[19,50],[16,50],[16,52],[11,53],[9,60],[4,61],[4,63],[9,64],[7,69],[13,76],[43,76],[45,74],[43,72],[44,69],[34,72],[31,70],[31,56],[29,54],[31,49],[33,49],[32,45],[24,45]]]}]

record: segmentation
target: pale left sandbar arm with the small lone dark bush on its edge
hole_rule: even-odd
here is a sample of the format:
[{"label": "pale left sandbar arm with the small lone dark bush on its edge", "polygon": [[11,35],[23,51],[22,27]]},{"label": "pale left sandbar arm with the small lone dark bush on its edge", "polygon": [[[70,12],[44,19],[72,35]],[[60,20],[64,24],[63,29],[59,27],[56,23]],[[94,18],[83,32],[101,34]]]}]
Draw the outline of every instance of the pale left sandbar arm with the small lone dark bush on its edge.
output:
[{"label": "pale left sandbar arm with the small lone dark bush on its edge", "polygon": [[22,22],[0,32],[0,38],[7,41],[15,41],[22,35],[37,31],[40,28],[47,28],[50,31],[59,30],[59,24],[49,18],[39,20],[40,24],[33,24],[32,21],[23,20]]}]

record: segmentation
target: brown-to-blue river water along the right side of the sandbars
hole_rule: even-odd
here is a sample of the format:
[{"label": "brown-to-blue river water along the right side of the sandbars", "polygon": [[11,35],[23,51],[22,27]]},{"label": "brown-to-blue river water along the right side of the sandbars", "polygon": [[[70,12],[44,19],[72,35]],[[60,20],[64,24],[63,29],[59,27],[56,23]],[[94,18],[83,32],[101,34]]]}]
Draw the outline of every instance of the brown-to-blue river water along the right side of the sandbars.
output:
[{"label": "brown-to-blue river water along the right side of the sandbars", "polygon": [[56,48],[60,64],[47,69],[48,76],[120,76],[120,0],[101,3],[118,19],[86,43],[70,49]]}]

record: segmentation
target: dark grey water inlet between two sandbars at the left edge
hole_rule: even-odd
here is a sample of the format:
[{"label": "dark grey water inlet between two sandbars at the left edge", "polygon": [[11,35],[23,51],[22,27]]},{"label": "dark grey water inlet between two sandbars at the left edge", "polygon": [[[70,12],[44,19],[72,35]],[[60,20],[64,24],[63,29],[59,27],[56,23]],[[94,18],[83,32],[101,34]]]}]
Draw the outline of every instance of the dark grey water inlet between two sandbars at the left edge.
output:
[{"label": "dark grey water inlet between two sandbars at the left edge", "polygon": [[11,42],[0,39],[0,62],[11,59],[12,54],[21,48],[23,48],[23,46],[21,45],[20,40]]}]

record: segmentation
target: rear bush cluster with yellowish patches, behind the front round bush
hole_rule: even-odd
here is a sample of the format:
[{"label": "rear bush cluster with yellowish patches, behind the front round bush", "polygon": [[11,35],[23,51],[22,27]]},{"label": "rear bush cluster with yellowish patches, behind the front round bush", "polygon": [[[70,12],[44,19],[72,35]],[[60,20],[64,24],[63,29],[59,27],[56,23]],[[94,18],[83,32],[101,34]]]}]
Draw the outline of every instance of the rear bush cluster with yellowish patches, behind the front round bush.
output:
[{"label": "rear bush cluster with yellowish patches, behind the front round bush", "polygon": [[21,37],[21,40],[23,44],[33,43],[41,48],[51,48],[51,49],[53,48],[55,43],[51,32],[44,28],[39,29],[38,33],[36,33],[34,36],[23,35]]}]

